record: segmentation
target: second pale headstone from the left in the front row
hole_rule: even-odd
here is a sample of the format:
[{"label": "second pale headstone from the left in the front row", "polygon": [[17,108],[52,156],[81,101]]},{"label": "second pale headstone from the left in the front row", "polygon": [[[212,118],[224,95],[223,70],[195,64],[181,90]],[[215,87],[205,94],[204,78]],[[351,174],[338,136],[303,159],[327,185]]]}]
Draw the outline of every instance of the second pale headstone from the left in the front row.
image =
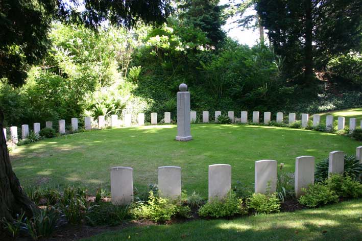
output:
[{"label": "second pale headstone from the left in the front row", "polygon": [[158,167],[158,190],[162,198],[181,200],[181,167]]}]

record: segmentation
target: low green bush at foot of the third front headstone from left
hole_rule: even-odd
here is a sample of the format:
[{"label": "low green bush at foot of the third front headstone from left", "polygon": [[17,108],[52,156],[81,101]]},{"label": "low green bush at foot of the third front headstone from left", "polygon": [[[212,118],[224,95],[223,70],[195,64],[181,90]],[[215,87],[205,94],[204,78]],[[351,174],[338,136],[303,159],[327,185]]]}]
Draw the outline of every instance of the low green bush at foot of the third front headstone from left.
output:
[{"label": "low green bush at foot of the third front headstone from left", "polygon": [[211,200],[199,209],[199,215],[210,218],[221,218],[223,216],[233,216],[243,214],[243,199],[237,199],[235,192],[228,192],[223,200]]}]

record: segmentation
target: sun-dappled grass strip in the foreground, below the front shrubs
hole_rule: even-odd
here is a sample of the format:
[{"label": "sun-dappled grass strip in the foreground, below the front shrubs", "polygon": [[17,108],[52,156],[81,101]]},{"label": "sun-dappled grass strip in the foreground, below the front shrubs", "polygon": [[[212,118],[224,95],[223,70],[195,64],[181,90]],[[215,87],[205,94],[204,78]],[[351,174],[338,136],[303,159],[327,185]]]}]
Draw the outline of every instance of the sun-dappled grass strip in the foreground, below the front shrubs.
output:
[{"label": "sun-dappled grass strip in the foreground, below the front shrubs", "polygon": [[82,240],[361,240],[362,199],[234,220],[134,226]]}]

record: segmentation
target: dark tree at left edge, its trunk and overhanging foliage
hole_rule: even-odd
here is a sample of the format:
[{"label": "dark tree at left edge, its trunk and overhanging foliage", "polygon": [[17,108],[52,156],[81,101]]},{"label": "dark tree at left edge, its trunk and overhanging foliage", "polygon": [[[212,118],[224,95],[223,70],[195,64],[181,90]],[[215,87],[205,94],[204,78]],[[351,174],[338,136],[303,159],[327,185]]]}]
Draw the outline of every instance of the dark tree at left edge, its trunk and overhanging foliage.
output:
[{"label": "dark tree at left edge, its trunk and overhanging foliage", "polygon": [[[14,87],[25,82],[27,70],[46,54],[47,33],[53,19],[85,23],[96,29],[109,20],[132,27],[138,20],[162,22],[171,11],[169,0],[84,0],[84,11],[73,11],[78,0],[0,1],[0,80]],[[0,130],[4,113],[0,106]],[[12,170],[5,136],[0,134],[0,216],[12,219],[25,211],[32,216],[37,207],[27,197]]]}]

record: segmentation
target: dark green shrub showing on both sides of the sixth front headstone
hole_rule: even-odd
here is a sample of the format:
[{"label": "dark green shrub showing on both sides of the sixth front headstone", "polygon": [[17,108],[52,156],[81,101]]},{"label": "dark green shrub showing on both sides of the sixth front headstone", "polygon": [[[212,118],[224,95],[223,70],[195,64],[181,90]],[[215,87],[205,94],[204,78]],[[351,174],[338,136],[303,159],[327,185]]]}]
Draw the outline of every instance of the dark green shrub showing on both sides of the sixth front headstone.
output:
[{"label": "dark green shrub showing on both sides of the sixth front headstone", "polygon": [[[325,158],[316,164],[315,181],[322,182],[328,177],[329,159]],[[356,160],[354,155],[345,155],[344,173],[347,176],[354,177],[355,180],[360,180],[362,175],[362,164]]]}]

